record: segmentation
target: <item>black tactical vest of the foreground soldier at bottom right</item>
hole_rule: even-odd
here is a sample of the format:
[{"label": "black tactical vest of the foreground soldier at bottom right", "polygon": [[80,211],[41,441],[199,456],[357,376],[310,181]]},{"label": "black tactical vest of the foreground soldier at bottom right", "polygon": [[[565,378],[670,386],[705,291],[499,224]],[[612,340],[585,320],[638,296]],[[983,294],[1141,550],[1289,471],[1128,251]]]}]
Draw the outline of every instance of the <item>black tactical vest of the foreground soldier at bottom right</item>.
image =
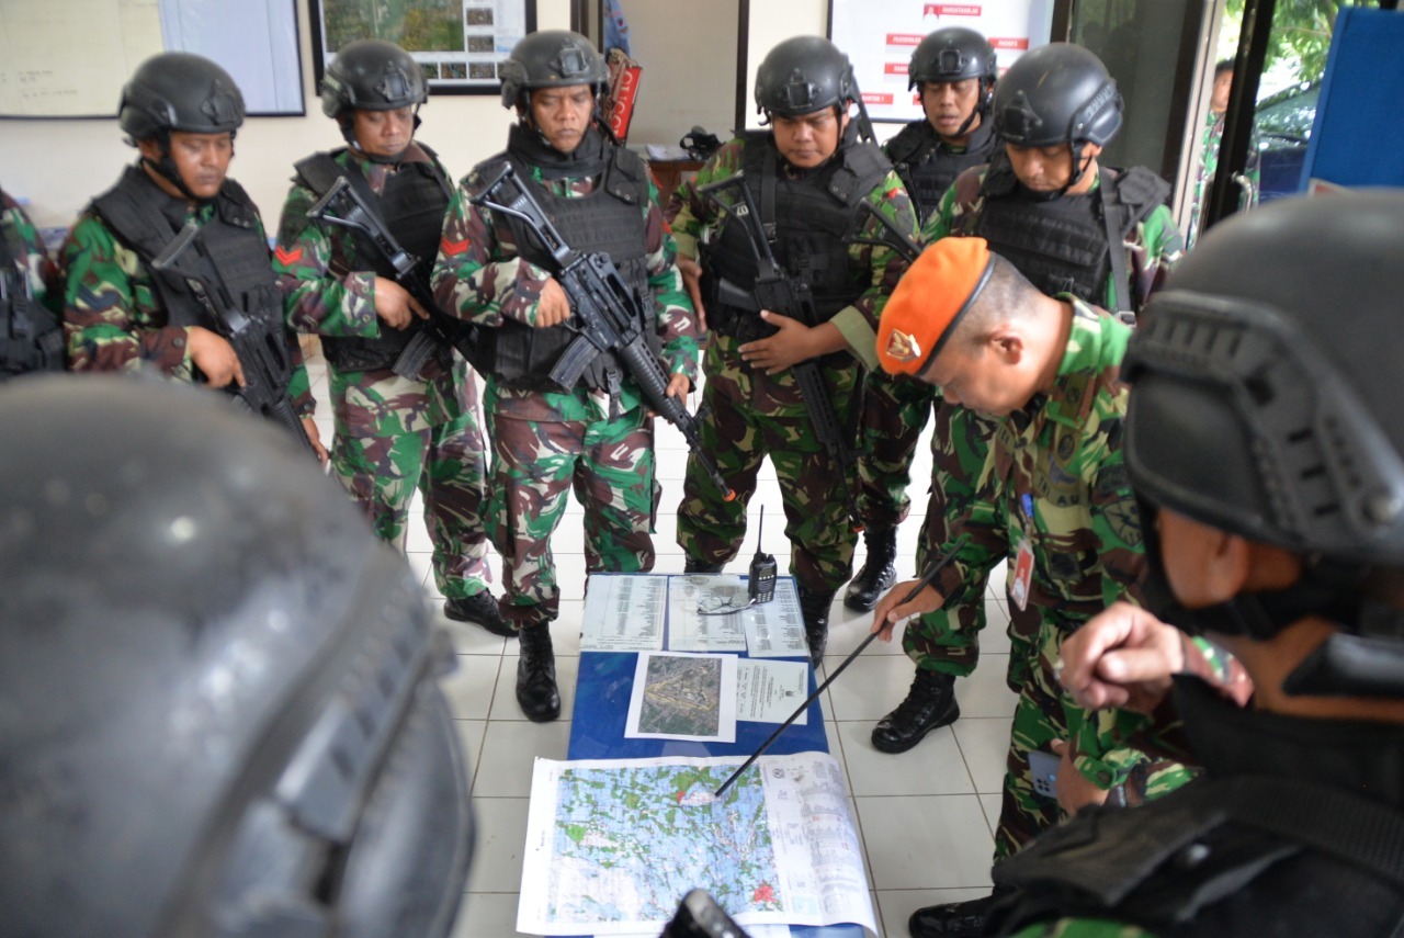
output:
[{"label": "black tactical vest of the foreground soldier at bottom right", "polygon": [[1160,938],[1401,934],[1397,751],[1380,751],[1372,778],[1348,767],[1280,775],[1273,767],[1294,757],[1275,750],[1311,750],[1306,762],[1311,736],[1278,729],[1265,739],[1237,715],[1223,720],[1228,705],[1193,678],[1177,678],[1175,702],[1192,740],[1212,734],[1209,751],[1231,747],[1238,764],[1266,768],[1202,778],[1139,807],[1085,809],[1043,831],[994,868],[995,885],[1015,892],[987,924],[1012,934],[1071,916]]}]

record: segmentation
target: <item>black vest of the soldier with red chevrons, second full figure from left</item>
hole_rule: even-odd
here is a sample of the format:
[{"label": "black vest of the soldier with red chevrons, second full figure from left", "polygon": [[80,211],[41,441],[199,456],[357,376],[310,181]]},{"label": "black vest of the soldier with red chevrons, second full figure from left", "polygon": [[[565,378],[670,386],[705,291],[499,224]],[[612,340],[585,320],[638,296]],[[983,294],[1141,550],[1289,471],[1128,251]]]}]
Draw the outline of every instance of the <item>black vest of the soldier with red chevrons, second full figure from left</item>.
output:
[{"label": "black vest of the soldier with red chevrons, second full figure from left", "polygon": [[[434,159],[434,152],[423,143],[416,146],[423,149],[430,160],[402,163],[397,171],[386,176],[385,188],[379,195],[371,190],[358,167],[343,167],[334,161],[336,156],[345,153],[345,147],[333,153],[314,153],[299,161],[298,176],[319,198],[326,195],[336,176],[345,176],[352,185],[359,185],[361,195],[379,211],[386,230],[400,247],[418,258],[420,268],[428,278],[438,257],[444,215],[448,212],[453,190],[448,176]],[[336,169],[334,174],[327,163]],[[352,177],[352,173],[359,178]],[[396,278],[390,261],[364,237],[355,239],[355,253],[350,263],[351,270],[375,271],[376,277],[386,279]],[[322,351],[338,371],[390,368],[423,329],[424,322],[414,316],[404,329],[390,329],[380,323],[380,334],[375,337],[322,336]],[[446,347],[438,348],[438,357],[444,368],[452,364],[452,351]]]}]

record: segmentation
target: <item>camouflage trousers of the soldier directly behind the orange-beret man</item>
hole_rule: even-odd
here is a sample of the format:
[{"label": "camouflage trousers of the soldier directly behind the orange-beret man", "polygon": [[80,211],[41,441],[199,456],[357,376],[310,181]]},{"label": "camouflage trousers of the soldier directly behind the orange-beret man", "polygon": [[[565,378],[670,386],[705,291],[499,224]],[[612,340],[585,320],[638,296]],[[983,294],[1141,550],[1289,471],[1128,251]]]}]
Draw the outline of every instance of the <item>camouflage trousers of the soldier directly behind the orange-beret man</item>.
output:
[{"label": "camouflage trousers of the soldier directly behind the orange-beret man", "polygon": [[[995,421],[939,400],[931,437],[932,482],[927,503],[927,528],[917,546],[917,572],[925,569],[932,545],[946,543],[949,521],[967,514],[977,480],[984,470]],[[1002,513],[1002,503],[995,506]],[[901,647],[918,668],[966,677],[980,660],[980,632],[986,625],[987,576],[966,584],[962,597],[951,597],[945,608],[907,625]],[[1009,609],[1009,670],[1005,681],[1015,694],[1024,687],[1039,632],[1036,609]]]}]

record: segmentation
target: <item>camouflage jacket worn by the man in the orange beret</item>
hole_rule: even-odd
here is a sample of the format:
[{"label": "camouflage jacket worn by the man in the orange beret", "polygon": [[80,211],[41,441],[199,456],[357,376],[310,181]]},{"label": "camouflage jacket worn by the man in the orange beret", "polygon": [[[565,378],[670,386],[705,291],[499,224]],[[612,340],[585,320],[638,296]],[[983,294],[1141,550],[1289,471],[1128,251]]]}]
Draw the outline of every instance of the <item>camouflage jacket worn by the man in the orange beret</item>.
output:
[{"label": "camouflage jacket worn by the man in the orange beret", "polygon": [[[948,518],[951,538],[963,531],[970,543],[936,580],[949,604],[974,601],[969,584],[981,579],[972,573],[1007,557],[1012,583],[1026,543],[1028,602],[1042,619],[1036,664],[1050,675],[1066,636],[1113,601],[1134,601],[1144,563],[1122,456],[1127,389],[1118,381],[1132,330],[1078,299],[1060,299],[1071,303],[1073,324],[1053,388],[998,423],[974,498]],[[1070,720],[1077,768],[1104,789],[1148,758],[1127,748],[1127,720],[1141,726],[1140,715],[1122,711]]]}]

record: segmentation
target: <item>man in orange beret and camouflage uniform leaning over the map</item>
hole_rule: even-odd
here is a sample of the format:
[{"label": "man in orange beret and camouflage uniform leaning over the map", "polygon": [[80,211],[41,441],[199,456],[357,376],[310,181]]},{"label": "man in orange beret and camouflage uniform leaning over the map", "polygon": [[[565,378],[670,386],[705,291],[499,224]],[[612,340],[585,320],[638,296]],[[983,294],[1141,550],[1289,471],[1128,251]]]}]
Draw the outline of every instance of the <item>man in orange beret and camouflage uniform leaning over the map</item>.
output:
[{"label": "man in orange beret and camouflage uniform leaning over the map", "polygon": [[[1061,692],[1056,667],[1064,638],[1133,588],[1143,567],[1136,501],[1122,461],[1126,389],[1118,365],[1130,327],[1075,296],[1040,293],[981,237],[948,237],[922,253],[893,292],[878,331],[883,369],[941,388],[951,407],[1000,420],[988,458],[973,480],[965,517],[932,553],[969,535],[935,583],[901,602],[896,586],[873,611],[873,630],[890,639],[903,619],[984,591],[987,572],[1009,564],[1009,595],[1036,611],[1011,727],[995,861],[1059,820],[1032,762],[1074,741],[1070,771],[1098,789],[1126,782],[1147,757],[1109,732],[1118,713],[1094,722]],[[1091,740],[1092,748],[1080,748]],[[1033,754],[1033,755],[1031,755]],[[1170,769],[1165,769],[1170,771]],[[1040,772],[1042,775],[1042,772]],[[1139,795],[1139,793],[1137,793]],[[979,934],[988,900],[921,909],[917,938]]]}]

